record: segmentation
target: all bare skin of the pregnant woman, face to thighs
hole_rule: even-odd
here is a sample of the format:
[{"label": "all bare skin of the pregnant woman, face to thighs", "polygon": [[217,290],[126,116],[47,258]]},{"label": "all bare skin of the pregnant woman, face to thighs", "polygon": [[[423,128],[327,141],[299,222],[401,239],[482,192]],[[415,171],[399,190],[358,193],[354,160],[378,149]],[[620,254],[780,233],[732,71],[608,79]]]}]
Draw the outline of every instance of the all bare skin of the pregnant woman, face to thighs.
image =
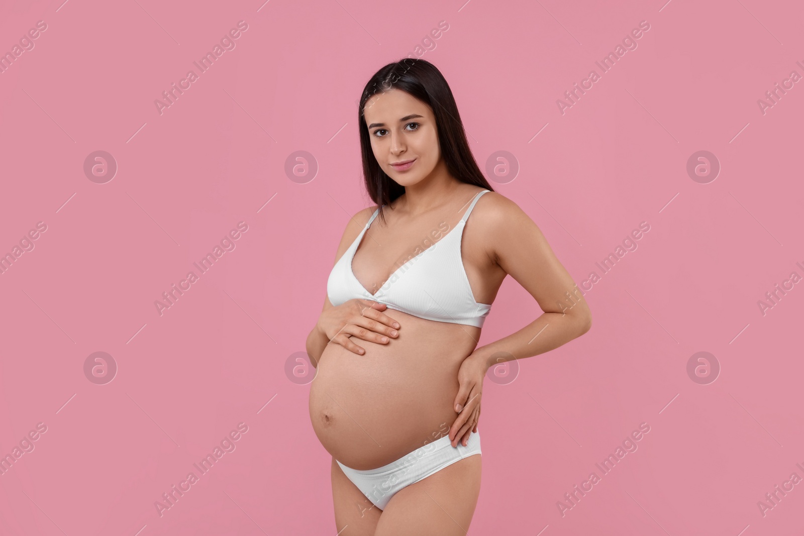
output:
[{"label": "all bare skin of the pregnant woman, face to thighs", "polygon": [[[355,252],[356,279],[376,293],[423,249],[424,237],[437,240],[452,231],[482,188],[460,182],[446,170],[428,105],[393,89],[373,96],[365,117],[377,162],[405,187],[404,195],[385,207],[387,225],[378,216]],[[411,159],[415,162],[408,170],[392,166]],[[336,261],[375,208],[359,211],[347,224]],[[434,230],[443,232],[437,236]],[[541,354],[579,337],[591,325],[588,306],[573,292],[572,277],[544,235],[503,195],[490,192],[478,199],[463,230],[461,259],[478,303],[492,304],[510,275],[544,314],[478,348],[481,329],[475,326],[429,321],[369,300],[334,307],[325,298],[310,332],[307,352],[318,367],[310,386],[310,419],[333,456],[336,532],[343,530],[342,536],[466,534],[478,501],[482,456],[469,456],[407,486],[382,511],[334,460],[355,469],[377,468],[447,433],[453,446],[466,444],[477,431],[482,379],[490,366],[508,360],[501,355]],[[574,301],[568,301],[566,292]]]}]

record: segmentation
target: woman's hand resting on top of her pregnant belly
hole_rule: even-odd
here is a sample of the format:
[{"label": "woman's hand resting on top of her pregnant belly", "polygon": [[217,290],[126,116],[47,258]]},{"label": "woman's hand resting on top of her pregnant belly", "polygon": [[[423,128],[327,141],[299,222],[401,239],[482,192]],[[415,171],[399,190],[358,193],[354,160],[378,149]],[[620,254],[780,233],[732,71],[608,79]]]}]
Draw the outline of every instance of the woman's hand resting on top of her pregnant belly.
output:
[{"label": "woman's hand resting on top of her pregnant belly", "polygon": [[365,354],[366,350],[357,346],[350,337],[364,341],[388,344],[391,338],[399,336],[396,329],[399,322],[381,313],[385,304],[361,298],[353,298],[324,310],[318,317],[318,329],[330,339],[355,354]]}]

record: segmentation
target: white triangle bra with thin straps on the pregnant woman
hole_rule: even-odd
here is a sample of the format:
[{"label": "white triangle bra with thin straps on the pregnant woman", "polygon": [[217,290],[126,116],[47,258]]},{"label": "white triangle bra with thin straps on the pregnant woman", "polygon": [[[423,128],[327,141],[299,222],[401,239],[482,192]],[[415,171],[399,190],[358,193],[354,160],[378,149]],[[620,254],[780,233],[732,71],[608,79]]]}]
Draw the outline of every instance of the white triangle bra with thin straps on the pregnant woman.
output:
[{"label": "white triangle bra with thin straps on the pregnant woman", "polygon": [[[377,208],[366,227],[363,227],[363,231],[360,231],[330,272],[326,281],[326,294],[330,303],[341,305],[347,300],[362,298],[427,320],[482,327],[491,305],[474,301],[461,260],[461,237],[474,204],[488,191],[490,190],[478,192],[453,229],[424,252],[402,264],[377,293],[372,295],[355,277],[351,263],[363,235],[379,214]],[[459,231],[453,232],[456,230]]]}]

